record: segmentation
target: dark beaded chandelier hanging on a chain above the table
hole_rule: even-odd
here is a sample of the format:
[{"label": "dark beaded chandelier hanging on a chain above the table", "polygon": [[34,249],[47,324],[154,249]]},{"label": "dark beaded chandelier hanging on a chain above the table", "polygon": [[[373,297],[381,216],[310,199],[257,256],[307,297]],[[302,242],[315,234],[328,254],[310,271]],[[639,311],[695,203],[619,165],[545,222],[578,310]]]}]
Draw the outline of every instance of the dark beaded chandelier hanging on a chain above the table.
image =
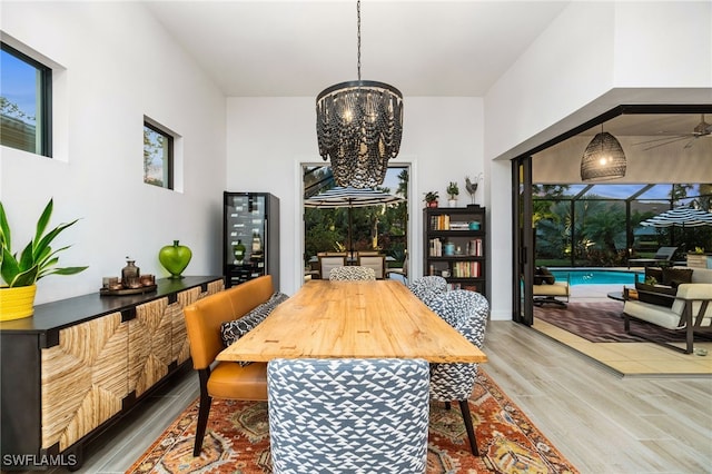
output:
[{"label": "dark beaded chandelier hanging on a chain above the table", "polygon": [[360,79],[360,0],[356,12],[358,80],[317,96],[316,135],[337,186],[374,188],[383,184],[388,160],[400,149],[403,95],[387,83]]}]

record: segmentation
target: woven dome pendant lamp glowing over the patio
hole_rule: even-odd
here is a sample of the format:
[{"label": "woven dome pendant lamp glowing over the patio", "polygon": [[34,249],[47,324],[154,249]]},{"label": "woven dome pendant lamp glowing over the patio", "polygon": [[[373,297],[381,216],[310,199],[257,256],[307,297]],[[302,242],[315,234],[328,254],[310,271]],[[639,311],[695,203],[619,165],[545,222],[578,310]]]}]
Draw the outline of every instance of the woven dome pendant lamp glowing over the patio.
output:
[{"label": "woven dome pendant lamp glowing over the patio", "polygon": [[623,147],[614,136],[603,131],[593,137],[581,159],[581,179],[605,181],[625,176],[626,160]]}]

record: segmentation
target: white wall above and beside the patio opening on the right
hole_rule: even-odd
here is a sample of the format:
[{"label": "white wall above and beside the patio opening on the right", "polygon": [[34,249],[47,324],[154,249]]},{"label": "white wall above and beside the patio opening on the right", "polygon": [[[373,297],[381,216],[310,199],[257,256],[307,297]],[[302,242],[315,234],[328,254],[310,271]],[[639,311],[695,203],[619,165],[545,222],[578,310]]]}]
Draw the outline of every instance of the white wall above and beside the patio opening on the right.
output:
[{"label": "white wall above and beside the patio opening on the right", "polygon": [[[487,92],[485,160],[514,158],[619,105],[710,103],[711,34],[706,1],[572,2]],[[504,168],[495,161],[490,175],[496,245],[512,240]],[[512,316],[511,254],[511,244],[492,251],[494,319]]]}]

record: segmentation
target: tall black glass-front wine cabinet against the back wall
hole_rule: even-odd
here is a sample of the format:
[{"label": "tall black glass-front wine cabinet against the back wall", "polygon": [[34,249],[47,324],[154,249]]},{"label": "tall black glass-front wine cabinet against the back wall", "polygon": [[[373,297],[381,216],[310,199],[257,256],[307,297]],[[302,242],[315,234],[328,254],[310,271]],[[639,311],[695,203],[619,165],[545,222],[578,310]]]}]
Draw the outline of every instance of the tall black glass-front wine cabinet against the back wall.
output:
[{"label": "tall black glass-front wine cabinet against the back wall", "polygon": [[224,192],[222,267],[226,286],[271,275],[279,289],[279,198]]}]

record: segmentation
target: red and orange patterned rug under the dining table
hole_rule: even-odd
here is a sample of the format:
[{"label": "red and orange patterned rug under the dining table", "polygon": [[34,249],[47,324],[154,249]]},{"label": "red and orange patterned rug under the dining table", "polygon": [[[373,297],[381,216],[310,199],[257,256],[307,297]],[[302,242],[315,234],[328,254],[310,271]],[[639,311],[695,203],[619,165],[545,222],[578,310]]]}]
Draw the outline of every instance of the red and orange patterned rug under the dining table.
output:
[{"label": "red and orange patterned rug under the dining table", "polygon": [[[427,473],[577,473],[525,414],[482,372],[469,399],[479,457],[455,403],[432,404]],[[192,457],[198,401],[144,453],[132,473],[271,473],[267,404],[215,399],[202,454]]]}]

